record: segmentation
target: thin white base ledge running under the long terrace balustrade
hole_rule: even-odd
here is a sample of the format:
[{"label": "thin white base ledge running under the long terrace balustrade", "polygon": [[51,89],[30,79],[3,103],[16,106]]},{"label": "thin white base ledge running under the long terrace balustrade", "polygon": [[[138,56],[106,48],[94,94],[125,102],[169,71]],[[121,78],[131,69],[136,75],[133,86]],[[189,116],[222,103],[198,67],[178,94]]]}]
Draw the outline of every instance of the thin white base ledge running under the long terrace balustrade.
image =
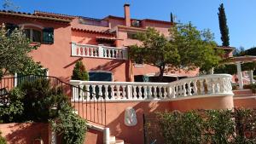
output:
[{"label": "thin white base ledge running under the long terrace balustrade", "polygon": [[[232,96],[233,93],[224,93],[224,94],[211,94],[211,95],[192,95],[192,96],[183,96],[171,99],[137,99],[137,100],[129,100],[129,99],[119,99],[119,100],[106,100],[106,102],[164,102],[164,101],[182,101],[182,100],[191,100],[191,99],[198,99],[198,98],[212,98],[212,97],[220,97],[220,96]],[[255,96],[256,97],[256,96]],[[94,100],[87,100],[94,101]],[[101,100],[98,100],[101,101]],[[104,100],[102,100],[104,101]],[[72,102],[83,102],[86,103],[86,100],[72,100]]]}]

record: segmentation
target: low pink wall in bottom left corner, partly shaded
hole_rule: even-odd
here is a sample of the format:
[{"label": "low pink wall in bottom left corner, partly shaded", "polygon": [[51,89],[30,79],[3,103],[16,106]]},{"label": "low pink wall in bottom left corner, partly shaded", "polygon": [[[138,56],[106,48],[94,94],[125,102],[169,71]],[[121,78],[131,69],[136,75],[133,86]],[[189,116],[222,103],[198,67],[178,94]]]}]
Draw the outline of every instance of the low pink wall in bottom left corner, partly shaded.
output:
[{"label": "low pink wall in bottom left corner, partly shaded", "polygon": [[6,135],[9,144],[33,143],[42,139],[44,144],[49,143],[48,124],[13,124],[7,128],[11,132]]}]

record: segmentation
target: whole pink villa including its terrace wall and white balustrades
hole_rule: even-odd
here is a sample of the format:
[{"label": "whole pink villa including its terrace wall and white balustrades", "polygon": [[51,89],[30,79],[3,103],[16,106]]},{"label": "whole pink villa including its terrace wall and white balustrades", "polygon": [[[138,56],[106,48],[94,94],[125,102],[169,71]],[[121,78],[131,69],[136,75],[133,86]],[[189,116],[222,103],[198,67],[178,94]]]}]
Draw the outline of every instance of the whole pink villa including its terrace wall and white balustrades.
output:
[{"label": "whole pink villa including its terrace wall and white balustrades", "polygon": [[[150,78],[154,79],[159,72],[155,66],[129,60],[129,46],[140,44],[134,39],[134,34],[144,32],[147,27],[154,27],[168,36],[168,30],[173,24],[163,20],[132,19],[130,5],[125,4],[124,9],[124,17],[108,15],[100,20],[40,11],[35,11],[34,14],[0,11],[0,23],[5,23],[10,29],[23,28],[26,36],[33,43],[40,45],[31,55],[49,70],[49,76],[61,78],[62,81],[76,86],[84,85],[88,91],[90,87],[92,92],[98,91],[99,95],[105,95],[102,108],[98,103],[88,102],[99,101],[97,97],[87,96],[86,100],[84,98],[81,100],[78,96],[79,92],[73,89],[73,106],[78,110],[79,115],[85,118],[94,114],[90,118],[86,117],[90,122],[87,144],[109,143],[114,139],[109,133],[132,144],[143,143],[144,113],[236,106],[255,107],[250,98],[233,98],[231,76],[226,74],[195,77],[198,75],[198,70],[181,71],[166,73],[166,81],[171,82],[184,77],[194,78],[162,84],[129,83],[145,82],[148,81],[147,78],[150,81]],[[225,56],[232,56],[232,48],[219,49],[226,51]],[[78,60],[82,60],[90,72],[90,81],[108,82],[70,81],[73,67]],[[236,94],[252,95],[251,91],[236,92]],[[87,112],[88,107],[96,108],[94,112]],[[124,120],[127,112],[133,112],[131,108],[137,115],[135,125],[126,124]],[[95,111],[104,112],[102,113],[104,120],[95,120],[99,117]]]}]

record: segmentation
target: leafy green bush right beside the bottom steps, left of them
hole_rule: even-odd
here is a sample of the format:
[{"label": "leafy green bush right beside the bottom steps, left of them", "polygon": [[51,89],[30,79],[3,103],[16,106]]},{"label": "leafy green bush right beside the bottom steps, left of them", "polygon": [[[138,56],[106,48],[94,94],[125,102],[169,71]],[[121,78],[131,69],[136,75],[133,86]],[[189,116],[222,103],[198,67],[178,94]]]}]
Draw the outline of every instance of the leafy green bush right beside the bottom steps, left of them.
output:
[{"label": "leafy green bush right beside the bottom steps, left of them", "polygon": [[86,121],[67,104],[61,105],[58,115],[58,118],[51,121],[51,125],[53,130],[62,136],[62,143],[83,144],[87,130]]}]

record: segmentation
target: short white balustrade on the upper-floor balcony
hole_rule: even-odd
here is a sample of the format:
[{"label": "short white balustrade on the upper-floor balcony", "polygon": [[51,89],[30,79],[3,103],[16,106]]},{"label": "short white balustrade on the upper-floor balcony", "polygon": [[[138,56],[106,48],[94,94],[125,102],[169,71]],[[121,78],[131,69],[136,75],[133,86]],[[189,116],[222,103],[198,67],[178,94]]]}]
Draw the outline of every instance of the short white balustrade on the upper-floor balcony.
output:
[{"label": "short white balustrade on the upper-floor balcony", "polygon": [[127,60],[126,48],[72,43],[71,49],[72,56]]}]

